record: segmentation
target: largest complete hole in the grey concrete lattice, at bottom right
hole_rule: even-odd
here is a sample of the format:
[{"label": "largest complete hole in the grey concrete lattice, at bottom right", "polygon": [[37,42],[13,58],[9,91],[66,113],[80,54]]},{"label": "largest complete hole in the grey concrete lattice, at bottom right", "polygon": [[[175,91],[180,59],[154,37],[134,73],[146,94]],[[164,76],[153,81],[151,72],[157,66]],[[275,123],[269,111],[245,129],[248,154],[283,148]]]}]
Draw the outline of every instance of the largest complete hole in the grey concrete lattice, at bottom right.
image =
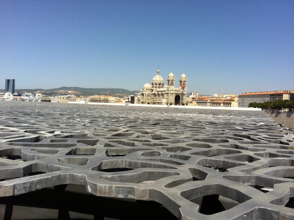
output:
[{"label": "largest complete hole in the grey concrete lattice, at bottom right", "polygon": [[[199,205],[198,212],[212,215],[248,201],[251,197],[227,186],[213,184],[182,191],[181,196]],[[213,207],[211,206],[213,204]]]}]

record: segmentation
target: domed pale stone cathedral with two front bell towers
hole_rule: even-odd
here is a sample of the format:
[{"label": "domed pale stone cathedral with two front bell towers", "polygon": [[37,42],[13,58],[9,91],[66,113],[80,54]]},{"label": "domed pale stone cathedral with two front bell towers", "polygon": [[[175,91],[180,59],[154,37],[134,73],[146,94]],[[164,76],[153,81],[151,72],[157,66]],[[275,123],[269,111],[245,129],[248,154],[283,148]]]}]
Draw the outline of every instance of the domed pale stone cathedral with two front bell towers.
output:
[{"label": "domed pale stone cathedral with two front bell towers", "polygon": [[163,78],[159,69],[153,77],[151,85],[147,82],[143,90],[137,94],[135,100],[137,104],[153,105],[186,105],[187,97],[187,78],[185,74],[181,75],[179,87],[176,87],[176,78],[171,72],[167,77],[167,83],[164,85]]}]

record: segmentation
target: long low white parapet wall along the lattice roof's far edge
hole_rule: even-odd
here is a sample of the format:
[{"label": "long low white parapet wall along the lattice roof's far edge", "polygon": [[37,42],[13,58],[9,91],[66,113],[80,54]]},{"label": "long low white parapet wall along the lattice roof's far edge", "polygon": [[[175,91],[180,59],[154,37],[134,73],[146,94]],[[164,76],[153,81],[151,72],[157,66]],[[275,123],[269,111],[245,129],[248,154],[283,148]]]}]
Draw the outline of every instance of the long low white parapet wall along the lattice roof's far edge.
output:
[{"label": "long low white parapet wall along the lattice roof's far edge", "polygon": [[[81,104],[78,102],[71,102]],[[91,105],[125,105],[125,106],[141,106],[141,107],[169,107],[169,108],[201,108],[201,109],[218,109],[218,110],[245,110],[245,111],[261,111],[261,108],[239,108],[239,107],[213,107],[213,106],[189,106],[189,105],[147,105],[147,104],[121,104],[121,103],[103,103],[103,102],[87,102]]]}]

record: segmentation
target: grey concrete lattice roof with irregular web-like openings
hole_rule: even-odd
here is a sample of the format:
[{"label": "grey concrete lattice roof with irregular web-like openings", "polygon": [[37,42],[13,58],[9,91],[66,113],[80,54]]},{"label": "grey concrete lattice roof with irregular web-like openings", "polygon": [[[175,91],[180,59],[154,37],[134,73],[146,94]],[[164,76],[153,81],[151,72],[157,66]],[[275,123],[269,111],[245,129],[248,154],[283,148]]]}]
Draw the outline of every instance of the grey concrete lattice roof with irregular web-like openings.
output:
[{"label": "grey concrete lattice roof with irregular web-like openings", "polygon": [[0,196],[79,184],[179,219],[293,219],[287,138],[263,112],[1,102]]}]

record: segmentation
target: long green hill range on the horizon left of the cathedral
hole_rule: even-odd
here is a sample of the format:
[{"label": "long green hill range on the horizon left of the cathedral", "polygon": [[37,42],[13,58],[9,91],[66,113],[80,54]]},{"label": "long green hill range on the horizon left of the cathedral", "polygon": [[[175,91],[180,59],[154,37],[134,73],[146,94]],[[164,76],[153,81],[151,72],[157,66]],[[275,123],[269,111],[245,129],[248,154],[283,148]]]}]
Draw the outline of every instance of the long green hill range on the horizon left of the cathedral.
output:
[{"label": "long green hill range on the horizon left of the cathedral", "polygon": [[[129,91],[121,88],[81,88],[81,87],[60,87],[54,89],[16,89],[16,92],[31,92],[31,93],[41,93],[44,95],[67,95],[67,94],[75,94],[75,95],[104,95],[105,93],[113,96],[123,96],[123,95],[134,95],[139,91]],[[4,90],[0,90],[0,92],[4,92]]]}]

